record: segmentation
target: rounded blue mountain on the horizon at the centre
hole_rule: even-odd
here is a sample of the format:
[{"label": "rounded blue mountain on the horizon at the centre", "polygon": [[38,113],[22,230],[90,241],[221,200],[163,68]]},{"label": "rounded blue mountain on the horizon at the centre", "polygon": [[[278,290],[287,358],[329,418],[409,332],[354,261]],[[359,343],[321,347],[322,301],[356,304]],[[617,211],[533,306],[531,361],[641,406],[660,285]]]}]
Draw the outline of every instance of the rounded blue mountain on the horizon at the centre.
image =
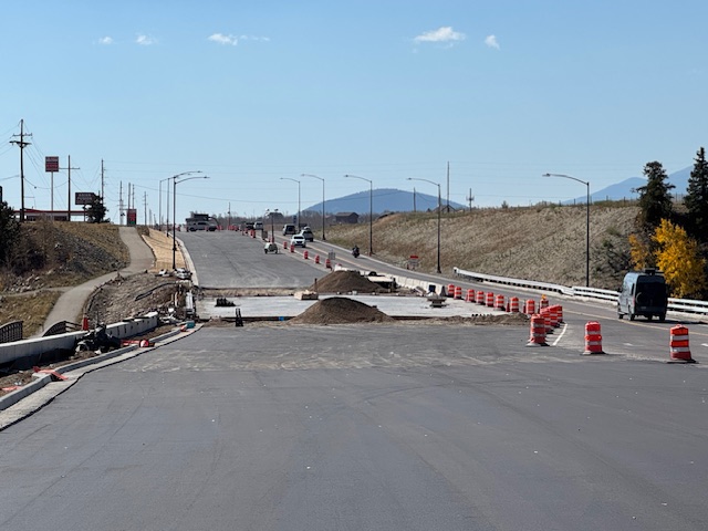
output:
[{"label": "rounded blue mountain on the horizon at the centre", "polygon": [[[437,196],[421,194],[416,191],[398,190],[396,188],[378,188],[374,189],[369,196],[368,191],[358,191],[344,197],[325,199],[324,209],[327,214],[356,212],[367,215],[369,204],[375,215],[384,212],[412,212],[435,210],[438,207]],[[447,206],[447,201],[442,198],[442,207]],[[450,201],[450,207],[455,209],[465,208],[464,205]],[[322,212],[322,202],[303,208],[305,211]]]}]

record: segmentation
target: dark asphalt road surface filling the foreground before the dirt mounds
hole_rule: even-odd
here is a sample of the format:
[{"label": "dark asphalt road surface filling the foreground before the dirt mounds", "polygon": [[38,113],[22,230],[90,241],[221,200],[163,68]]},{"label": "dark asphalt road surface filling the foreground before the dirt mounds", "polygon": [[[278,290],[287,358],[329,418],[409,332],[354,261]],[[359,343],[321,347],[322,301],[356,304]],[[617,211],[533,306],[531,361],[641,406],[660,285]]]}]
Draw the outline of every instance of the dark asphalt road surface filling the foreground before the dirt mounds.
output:
[{"label": "dark asphalt road surface filling the foreground before the dirt mounds", "polygon": [[704,530],[708,373],[525,339],[202,329],[2,431],[0,525]]}]

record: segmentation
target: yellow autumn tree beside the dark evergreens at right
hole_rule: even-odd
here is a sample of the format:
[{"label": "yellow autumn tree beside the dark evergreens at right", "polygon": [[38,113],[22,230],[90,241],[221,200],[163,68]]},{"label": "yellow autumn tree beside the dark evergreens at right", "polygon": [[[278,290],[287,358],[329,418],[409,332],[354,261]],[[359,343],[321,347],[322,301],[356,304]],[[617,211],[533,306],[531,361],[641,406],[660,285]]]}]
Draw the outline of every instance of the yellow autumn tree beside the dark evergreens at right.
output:
[{"label": "yellow autumn tree beside the dark evergreens at right", "polygon": [[698,296],[706,288],[706,260],[698,253],[698,243],[681,227],[662,219],[652,239],[656,242],[656,266],[664,272],[671,294],[677,298]]}]

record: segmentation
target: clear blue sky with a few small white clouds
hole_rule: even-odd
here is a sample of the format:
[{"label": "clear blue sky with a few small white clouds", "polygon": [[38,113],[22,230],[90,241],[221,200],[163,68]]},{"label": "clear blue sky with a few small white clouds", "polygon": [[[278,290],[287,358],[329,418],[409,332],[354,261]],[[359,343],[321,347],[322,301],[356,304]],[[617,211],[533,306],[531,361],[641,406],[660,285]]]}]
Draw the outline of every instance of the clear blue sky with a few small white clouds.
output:
[{"label": "clear blue sky with a few small white clouds", "polygon": [[[0,186],[49,208],[44,157],[117,221],[134,187],[165,217],[260,216],[374,188],[473,205],[583,196],[693,165],[708,129],[708,3],[615,1],[2,2]],[[284,178],[284,179],[283,179]],[[54,174],[66,208],[66,171]],[[146,200],[146,207],[144,201]],[[170,207],[171,208],[171,207]]]}]

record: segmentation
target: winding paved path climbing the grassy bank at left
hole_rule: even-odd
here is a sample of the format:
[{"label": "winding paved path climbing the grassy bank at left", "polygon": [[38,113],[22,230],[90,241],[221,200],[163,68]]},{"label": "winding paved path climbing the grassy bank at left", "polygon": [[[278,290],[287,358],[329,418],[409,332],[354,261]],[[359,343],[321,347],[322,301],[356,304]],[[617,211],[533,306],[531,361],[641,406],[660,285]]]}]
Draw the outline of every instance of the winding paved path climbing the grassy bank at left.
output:
[{"label": "winding paved path climbing the grassy bank at left", "polygon": [[101,284],[114,279],[116,274],[119,273],[127,277],[153,267],[155,261],[153,250],[147,246],[147,243],[145,243],[140,235],[138,235],[137,229],[135,227],[119,227],[118,232],[121,235],[121,239],[131,252],[131,263],[128,267],[114,273],[106,273],[102,277],[91,279],[90,281],[74,288],[67,288],[59,298],[54,308],[52,308],[46,320],[44,320],[42,331],[35,335],[42,335],[44,330],[48,330],[60,321],[79,323],[82,317],[83,308],[94,290]]}]

